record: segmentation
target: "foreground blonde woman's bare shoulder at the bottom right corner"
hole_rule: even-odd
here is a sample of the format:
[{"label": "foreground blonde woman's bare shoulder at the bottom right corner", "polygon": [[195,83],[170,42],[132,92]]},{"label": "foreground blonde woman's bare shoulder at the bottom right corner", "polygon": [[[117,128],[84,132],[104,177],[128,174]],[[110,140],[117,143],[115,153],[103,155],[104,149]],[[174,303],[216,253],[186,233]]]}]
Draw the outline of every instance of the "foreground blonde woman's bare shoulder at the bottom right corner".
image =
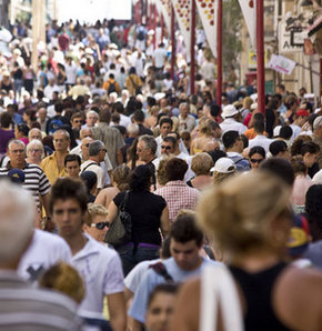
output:
[{"label": "foreground blonde woman's bare shoulder at the bottom right corner", "polygon": [[273,307],[291,329],[322,330],[322,272],[288,268],[274,288]]}]

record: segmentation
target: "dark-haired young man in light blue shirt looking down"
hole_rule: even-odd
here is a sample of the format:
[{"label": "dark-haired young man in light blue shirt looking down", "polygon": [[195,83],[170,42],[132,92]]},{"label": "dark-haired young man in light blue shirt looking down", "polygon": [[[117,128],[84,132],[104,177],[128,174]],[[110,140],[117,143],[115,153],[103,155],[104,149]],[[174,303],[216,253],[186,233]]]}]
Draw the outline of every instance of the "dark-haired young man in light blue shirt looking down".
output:
[{"label": "dark-haired young man in light blue shirt looking down", "polygon": [[[177,219],[170,230],[170,259],[163,261],[167,272],[174,282],[184,282],[191,277],[198,277],[201,269],[213,263],[200,257],[203,233],[197,227],[193,215],[182,215]],[[153,288],[165,283],[164,277],[150,269],[142,279],[134,295],[129,315],[134,319],[133,331],[141,330],[145,319],[149,294]]]}]

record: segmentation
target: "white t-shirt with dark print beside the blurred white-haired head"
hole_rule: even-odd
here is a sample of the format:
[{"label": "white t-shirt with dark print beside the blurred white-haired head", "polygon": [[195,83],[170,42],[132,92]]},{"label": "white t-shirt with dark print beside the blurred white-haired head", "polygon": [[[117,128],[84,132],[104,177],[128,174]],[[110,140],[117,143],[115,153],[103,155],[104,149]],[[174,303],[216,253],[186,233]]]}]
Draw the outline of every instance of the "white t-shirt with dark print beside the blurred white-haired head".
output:
[{"label": "white t-shirt with dark print beside the blurred white-haired head", "polygon": [[71,263],[68,243],[57,234],[36,229],[31,244],[20,260],[18,273],[27,280],[36,281],[43,270],[59,261]]}]

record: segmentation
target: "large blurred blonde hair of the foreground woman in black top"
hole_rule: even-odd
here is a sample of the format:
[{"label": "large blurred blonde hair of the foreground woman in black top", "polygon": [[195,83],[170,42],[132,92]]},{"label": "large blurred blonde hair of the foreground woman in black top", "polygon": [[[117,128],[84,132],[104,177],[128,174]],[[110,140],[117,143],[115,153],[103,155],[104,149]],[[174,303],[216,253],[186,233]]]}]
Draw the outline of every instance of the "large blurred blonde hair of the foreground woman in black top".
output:
[{"label": "large blurred blonde hair of the foreground woman in black top", "polygon": [[[271,173],[254,171],[231,178],[205,193],[198,204],[199,221],[224,252],[246,254],[285,244],[278,240],[272,221],[288,210],[290,190]],[[282,241],[282,243],[281,243]],[[284,242],[285,241],[285,242]],[[280,245],[279,245],[280,249]]]}]

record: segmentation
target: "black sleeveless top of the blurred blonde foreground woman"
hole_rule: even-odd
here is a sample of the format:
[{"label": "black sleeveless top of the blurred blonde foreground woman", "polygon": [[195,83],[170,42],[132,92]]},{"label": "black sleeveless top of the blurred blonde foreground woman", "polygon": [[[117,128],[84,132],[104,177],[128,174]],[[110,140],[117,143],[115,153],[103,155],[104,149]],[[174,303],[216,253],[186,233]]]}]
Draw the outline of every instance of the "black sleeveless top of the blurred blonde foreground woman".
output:
[{"label": "black sleeveless top of the blurred blonde foreground woman", "polygon": [[229,267],[245,299],[245,331],[290,330],[279,320],[272,307],[275,281],[285,268],[286,263],[282,262],[258,273],[248,273],[242,269]]}]

